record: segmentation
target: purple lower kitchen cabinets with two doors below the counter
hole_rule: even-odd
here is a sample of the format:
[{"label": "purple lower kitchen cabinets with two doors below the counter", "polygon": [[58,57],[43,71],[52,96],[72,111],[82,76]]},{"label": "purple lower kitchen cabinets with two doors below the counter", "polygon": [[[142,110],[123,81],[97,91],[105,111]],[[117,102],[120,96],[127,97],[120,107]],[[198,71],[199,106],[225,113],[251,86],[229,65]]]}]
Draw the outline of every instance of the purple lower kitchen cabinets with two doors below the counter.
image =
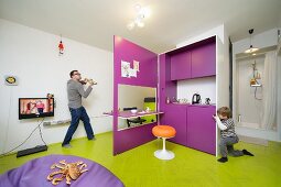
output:
[{"label": "purple lower kitchen cabinets with two doors below the counter", "polygon": [[175,128],[175,138],[169,141],[215,155],[215,106],[166,105],[160,124]]}]

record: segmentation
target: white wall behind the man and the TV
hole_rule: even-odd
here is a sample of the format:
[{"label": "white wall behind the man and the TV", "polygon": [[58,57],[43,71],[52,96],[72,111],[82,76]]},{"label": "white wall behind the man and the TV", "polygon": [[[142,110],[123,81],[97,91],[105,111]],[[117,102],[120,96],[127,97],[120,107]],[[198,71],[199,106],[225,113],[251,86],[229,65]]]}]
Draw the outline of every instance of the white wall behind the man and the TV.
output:
[{"label": "white wall behind the man and the TV", "polygon": [[[60,34],[60,33],[58,33]],[[93,33],[95,34],[95,33]],[[45,121],[69,119],[66,81],[69,72],[78,69],[83,77],[95,79],[98,85],[84,106],[91,118],[95,133],[112,130],[110,118],[100,117],[112,109],[112,53],[63,38],[65,54],[58,56],[58,35],[0,20],[0,152],[7,152],[22,143],[42,119],[19,120],[18,98],[55,96],[55,117]],[[19,86],[6,86],[4,75],[19,78]],[[47,144],[62,142],[68,124],[43,127]],[[86,136],[79,125],[74,138]],[[43,144],[39,131],[20,148]]]}]

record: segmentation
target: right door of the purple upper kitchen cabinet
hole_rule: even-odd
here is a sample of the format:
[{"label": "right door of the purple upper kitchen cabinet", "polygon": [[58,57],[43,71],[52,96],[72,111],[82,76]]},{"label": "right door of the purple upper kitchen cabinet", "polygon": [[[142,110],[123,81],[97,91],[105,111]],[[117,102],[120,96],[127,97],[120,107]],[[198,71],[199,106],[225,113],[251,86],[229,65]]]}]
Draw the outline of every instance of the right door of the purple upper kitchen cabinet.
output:
[{"label": "right door of the purple upper kitchen cabinet", "polygon": [[216,43],[194,48],[192,58],[192,78],[216,75]]}]

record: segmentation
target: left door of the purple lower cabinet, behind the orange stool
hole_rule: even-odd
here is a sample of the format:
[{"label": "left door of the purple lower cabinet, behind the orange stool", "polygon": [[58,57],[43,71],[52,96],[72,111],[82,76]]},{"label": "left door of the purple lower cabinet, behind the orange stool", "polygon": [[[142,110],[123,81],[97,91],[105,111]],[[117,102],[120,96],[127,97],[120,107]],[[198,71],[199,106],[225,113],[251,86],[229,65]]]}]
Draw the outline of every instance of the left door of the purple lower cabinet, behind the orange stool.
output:
[{"label": "left door of the purple lower cabinet, behind the orange stool", "polygon": [[160,124],[171,125],[176,134],[169,141],[186,146],[186,106],[169,105],[161,116]]}]

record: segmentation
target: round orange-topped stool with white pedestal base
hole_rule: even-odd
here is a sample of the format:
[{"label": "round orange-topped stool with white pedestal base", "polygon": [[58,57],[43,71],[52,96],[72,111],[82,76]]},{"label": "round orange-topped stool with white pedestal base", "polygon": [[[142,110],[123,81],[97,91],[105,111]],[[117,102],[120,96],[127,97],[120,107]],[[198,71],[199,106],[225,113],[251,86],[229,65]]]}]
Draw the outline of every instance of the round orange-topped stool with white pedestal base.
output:
[{"label": "round orange-topped stool with white pedestal base", "polygon": [[175,129],[170,125],[155,125],[152,129],[153,135],[163,139],[163,150],[158,150],[154,152],[154,156],[160,160],[172,160],[174,158],[174,153],[165,148],[165,140],[175,136]]}]

